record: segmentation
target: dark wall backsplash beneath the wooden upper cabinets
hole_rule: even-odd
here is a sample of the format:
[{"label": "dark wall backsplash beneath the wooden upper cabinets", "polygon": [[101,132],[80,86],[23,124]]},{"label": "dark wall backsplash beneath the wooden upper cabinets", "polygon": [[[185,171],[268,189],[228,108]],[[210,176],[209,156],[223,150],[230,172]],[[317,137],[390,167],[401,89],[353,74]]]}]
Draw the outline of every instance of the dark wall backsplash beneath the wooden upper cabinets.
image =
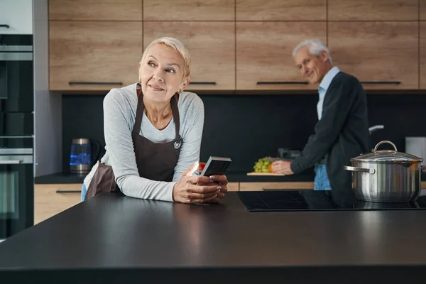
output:
[{"label": "dark wall backsplash beneath the wooden upper cabinets", "polygon": [[[317,122],[317,95],[200,95],[204,102],[201,161],[209,155],[227,156],[229,170],[251,171],[258,158],[277,155],[277,149],[302,149]],[[100,95],[64,95],[62,98],[63,171],[69,170],[72,138],[93,138],[102,145],[104,125]],[[383,124],[373,133],[375,145],[390,140],[405,151],[405,136],[426,136],[421,114],[422,94],[369,94],[370,126]],[[385,146],[383,146],[385,147]]]}]

